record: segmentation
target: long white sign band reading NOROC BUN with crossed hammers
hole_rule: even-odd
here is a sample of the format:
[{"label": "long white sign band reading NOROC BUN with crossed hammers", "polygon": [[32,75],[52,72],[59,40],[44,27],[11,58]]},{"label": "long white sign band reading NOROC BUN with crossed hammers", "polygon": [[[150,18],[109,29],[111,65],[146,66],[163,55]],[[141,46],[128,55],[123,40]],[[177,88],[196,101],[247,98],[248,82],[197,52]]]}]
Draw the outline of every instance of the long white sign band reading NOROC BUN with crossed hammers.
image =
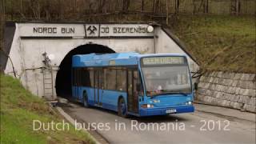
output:
[{"label": "long white sign band reading NOROC BUN with crossed hammers", "polygon": [[153,37],[147,24],[52,24],[21,23],[18,25],[21,37]]}]

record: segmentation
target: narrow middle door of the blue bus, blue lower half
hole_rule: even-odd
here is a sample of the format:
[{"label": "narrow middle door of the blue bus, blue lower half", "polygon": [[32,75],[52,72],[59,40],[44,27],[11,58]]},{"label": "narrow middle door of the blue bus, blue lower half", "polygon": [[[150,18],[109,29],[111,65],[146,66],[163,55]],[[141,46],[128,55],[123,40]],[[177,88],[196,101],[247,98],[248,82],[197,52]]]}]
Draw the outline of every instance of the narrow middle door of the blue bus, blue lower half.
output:
[{"label": "narrow middle door of the blue bus, blue lower half", "polygon": [[103,70],[98,68],[94,70],[94,103],[102,105],[102,87],[103,87]]}]

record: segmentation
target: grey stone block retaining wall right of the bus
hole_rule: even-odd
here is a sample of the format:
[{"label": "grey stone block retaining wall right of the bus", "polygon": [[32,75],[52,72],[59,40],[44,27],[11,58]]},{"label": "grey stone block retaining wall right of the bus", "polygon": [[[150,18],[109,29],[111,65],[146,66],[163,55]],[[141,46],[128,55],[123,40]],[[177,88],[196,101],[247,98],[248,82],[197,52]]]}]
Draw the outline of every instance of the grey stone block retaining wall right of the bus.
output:
[{"label": "grey stone block retaining wall right of the bus", "polygon": [[195,99],[212,105],[256,113],[255,74],[214,71],[203,74]]}]

